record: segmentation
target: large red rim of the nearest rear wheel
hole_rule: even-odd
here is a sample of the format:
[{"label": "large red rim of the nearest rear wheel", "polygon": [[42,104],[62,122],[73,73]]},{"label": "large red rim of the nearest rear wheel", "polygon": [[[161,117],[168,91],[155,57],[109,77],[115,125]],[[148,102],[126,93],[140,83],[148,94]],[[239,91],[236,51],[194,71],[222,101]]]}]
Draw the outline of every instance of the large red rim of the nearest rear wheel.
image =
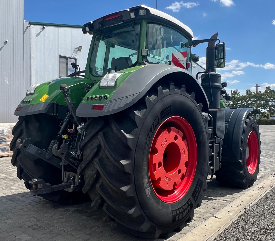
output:
[{"label": "large red rim of the nearest rear wheel", "polygon": [[157,197],[166,203],[180,200],[191,186],[196,166],[191,125],[180,116],[169,117],[156,131],[149,154],[149,176]]}]

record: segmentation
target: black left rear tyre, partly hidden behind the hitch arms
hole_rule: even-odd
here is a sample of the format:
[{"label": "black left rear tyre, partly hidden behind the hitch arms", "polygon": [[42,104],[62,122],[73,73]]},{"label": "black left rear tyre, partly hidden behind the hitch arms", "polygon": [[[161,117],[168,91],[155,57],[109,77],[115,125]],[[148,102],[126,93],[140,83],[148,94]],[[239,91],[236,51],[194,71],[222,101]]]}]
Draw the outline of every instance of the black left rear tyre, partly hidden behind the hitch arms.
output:
[{"label": "black left rear tyre, partly hidden behind the hitch arms", "polygon": [[[16,147],[18,138],[24,140],[31,138],[31,143],[40,149],[47,150],[51,140],[58,133],[61,120],[58,120],[47,114],[35,114],[19,117],[17,124],[12,130],[14,135],[10,150],[13,152],[12,165],[17,167],[17,177],[24,180],[27,189],[31,189],[29,180],[33,178],[41,178],[52,185],[62,183],[61,169],[51,165],[50,163],[37,158],[34,155],[26,153],[22,149]],[[60,190],[49,194],[39,195],[47,200],[57,201],[64,204],[73,204],[84,200],[82,191],[67,192]]]}]

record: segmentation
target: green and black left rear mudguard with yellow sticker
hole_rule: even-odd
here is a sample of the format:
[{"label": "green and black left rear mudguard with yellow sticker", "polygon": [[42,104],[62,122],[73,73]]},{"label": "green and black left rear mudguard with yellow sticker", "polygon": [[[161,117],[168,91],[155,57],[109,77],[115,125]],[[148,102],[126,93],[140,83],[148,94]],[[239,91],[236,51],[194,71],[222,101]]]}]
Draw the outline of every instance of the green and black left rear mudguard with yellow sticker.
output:
[{"label": "green and black left rear mudguard with yellow sticker", "polygon": [[[92,80],[79,77],[64,77],[42,83],[35,88],[33,94],[26,95],[15,109],[14,114],[16,116],[27,116],[46,113],[63,119],[67,112],[67,102],[60,90],[60,85],[70,86],[80,82],[92,85]],[[83,86],[75,85],[70,88],[69,95],[74,105],[78,106],[86,92]]]}]

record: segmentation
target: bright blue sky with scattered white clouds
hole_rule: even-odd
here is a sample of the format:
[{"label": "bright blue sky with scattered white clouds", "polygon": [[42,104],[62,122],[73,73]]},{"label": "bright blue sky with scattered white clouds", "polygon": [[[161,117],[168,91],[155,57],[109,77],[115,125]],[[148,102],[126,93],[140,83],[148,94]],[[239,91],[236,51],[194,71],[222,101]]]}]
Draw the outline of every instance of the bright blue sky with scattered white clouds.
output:
[{"label": "bright blue sky with scattered white clouds", "polygon": [[[156,7],[155,0],[72,1],[25,0],[28,21],[79,24],[129,7],[144,4]],[[227,90],[255,91],[256,83],[275,89],[275,1],[274,0],[158,0],[158,10],[189,26],[198,39],[219,32],[226,43],[226,68],[218,69]],[[192,49],[205,65],[207,44]],[[265,88],[259,88],[259,90]]]}]

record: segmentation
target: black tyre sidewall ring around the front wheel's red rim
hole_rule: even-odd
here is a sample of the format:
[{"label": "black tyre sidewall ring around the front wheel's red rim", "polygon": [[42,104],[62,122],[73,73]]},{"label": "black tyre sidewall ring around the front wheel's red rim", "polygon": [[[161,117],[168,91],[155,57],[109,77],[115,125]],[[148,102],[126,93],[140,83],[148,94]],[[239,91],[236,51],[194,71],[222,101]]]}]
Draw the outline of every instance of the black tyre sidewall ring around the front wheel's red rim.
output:
[{"label": "black tyre sidewall ring around the front wheel's red rim", "polygon": [[[258,138],[258,148],[259,148],[259,154],[258,154],[258,163],[256,170],[253,174],[250,174],[247,169],[247,164],[246,164],[246,148],[247,148],[247,140],[249,133],[251,131],[255,131],[257,138]],[[257,122],[252,119],[248,121],[248,125],[244,127],[244,138],[243,138],[243,145],[244,145],[244,151],[241,153],[242,158],[243,158],[243,170],[244,170],[244,175],[246,176],[246,179],[249,183],[254,183],[257,179],[257,174],[259,173],[259,164],[260,164],[260,132],[259,128],[257,125]]]}]

